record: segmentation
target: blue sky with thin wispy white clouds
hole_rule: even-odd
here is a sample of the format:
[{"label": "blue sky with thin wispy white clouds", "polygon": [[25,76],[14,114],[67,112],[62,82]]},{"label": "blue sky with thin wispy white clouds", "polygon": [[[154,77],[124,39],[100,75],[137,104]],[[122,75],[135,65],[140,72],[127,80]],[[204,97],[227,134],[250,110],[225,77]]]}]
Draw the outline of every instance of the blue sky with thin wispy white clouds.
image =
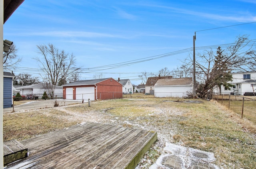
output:
[{"label": "blue sky with thin wispy white clouds", "polygon": [[[83,68],[80,80],[104,73],[138,85],[142,72],[172,71],[192,51],[90,68],[191,48],[195,31],[196,47],[233,43],[244,34],[256,39],[256,23],[246,24],[251,22],[256,22],[255,0],[25,0],[4,24],[4,39],[13,41],[22,57],[15,74],[39,77],[36,45],[52,43],[76,56]],[[225,26],[232,27],[220,28]]]}]

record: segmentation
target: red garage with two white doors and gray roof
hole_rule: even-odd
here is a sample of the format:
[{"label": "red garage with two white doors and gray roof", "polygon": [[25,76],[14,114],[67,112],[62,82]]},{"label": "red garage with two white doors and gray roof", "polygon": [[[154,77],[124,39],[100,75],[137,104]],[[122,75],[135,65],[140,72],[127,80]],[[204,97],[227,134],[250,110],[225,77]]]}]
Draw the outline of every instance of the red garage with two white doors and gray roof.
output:
[{"label": "red garage with two white doors and gray roof", "polygon": [[122,84],[112,78],[76,81],[63,86],[63,98],[106,100],[122,98]]}]

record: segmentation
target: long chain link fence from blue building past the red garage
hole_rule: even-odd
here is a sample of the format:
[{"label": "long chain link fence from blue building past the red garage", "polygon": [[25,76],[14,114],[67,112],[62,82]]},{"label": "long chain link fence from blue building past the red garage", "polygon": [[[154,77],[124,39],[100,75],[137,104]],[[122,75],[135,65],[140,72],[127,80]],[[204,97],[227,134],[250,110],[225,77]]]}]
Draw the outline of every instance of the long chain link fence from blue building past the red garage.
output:
[{"label": "long chain link fence from blue building past the red garage", "polygon": [[[94,94],[95,93],[66,94],[65,99],[63,99],[62,93],[54,94],[52,98],[49,95],[43,96],[43,94],[28,94],[20,97],[13,96],[13,98],[4,98],[4,113],[24,112],[27,110],[52,108],[77,103],[88,103],[88,106],[90,106],[90,101],[95,100]],[[122,92],[98,92],[96,100],[122,98],[122,94]]]}]

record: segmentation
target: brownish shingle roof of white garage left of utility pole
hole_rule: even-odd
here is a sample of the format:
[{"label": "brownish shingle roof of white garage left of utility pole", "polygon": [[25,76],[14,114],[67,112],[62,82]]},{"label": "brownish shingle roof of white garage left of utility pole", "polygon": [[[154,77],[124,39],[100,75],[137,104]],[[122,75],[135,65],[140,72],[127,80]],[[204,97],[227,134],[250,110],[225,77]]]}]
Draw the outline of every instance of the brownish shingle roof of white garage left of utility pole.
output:
[{"label": "brownish shingle roof of white garage left of utility pole", "polygon": [[158,79],[155,86],[190,86],[192,85],[192,77]]}]

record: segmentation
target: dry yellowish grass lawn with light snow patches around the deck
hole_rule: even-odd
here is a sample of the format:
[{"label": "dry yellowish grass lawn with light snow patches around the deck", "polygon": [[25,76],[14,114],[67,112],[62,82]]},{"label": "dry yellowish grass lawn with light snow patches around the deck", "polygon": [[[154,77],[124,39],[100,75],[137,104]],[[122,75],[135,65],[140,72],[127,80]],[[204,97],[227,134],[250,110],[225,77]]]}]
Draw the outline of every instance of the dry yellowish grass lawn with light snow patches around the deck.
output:
[{"label": "dry yellowish grass lawn with light snow patches around the deck", "polygon": [[212,152],[220,168],[256,166],[255,126],[217,102],[132,94],[132,98],[90,105],[4,114],[4,140],[24,140],[91,121],[158,132],[158,141],[140,162],[141,168],[148,168],[164,153],[166,142]]}]

